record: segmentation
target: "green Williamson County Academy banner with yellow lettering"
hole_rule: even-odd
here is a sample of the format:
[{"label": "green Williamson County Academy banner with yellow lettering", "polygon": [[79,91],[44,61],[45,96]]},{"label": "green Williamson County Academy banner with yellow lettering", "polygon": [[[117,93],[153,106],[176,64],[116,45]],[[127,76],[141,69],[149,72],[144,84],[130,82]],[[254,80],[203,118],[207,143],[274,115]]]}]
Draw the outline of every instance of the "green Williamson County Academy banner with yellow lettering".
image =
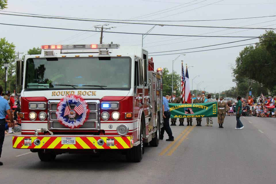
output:
[{"label": "green Williamson County Academy banner with yellow lettering", "polygon": [[170,107],[170,118],[208,118],[218,116],[218,102],[202,104],[172,104]]}]

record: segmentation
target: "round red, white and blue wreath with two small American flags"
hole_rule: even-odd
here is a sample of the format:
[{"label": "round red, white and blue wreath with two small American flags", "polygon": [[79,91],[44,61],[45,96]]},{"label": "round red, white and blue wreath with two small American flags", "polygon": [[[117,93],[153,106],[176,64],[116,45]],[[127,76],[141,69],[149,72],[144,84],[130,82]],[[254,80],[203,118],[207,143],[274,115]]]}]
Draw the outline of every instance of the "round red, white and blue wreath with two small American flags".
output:
[{"label": "round red, white and blue wreath with two small American flags", "polygon": [[[73,109],[70,106],[74,106]],[[89,108],[85,100],[78,95],[68,95],[57,104],[57,119],[70,129],[78,128],[88,119]]]}]

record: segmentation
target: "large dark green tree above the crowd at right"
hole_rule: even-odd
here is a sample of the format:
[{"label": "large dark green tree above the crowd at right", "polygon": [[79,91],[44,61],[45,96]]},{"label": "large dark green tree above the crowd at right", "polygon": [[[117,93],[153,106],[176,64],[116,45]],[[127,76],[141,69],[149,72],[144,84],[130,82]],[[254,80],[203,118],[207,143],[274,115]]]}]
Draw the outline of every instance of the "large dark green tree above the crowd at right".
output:
[{"label": "large dark green tree above the crowd at right", "polygon": [[[275,35],[274,31],[266,31],[260,38],[261,43],[245,47],[236,59],[236,68],[233,68],[233,81],[237,87],[235,93],[248,96],[248,91],[272,91],[276,85],[276,40],[266,36]],[[261,89],[261,85],[263,86]],[[265,93],[264,93],[265,94]]]}]

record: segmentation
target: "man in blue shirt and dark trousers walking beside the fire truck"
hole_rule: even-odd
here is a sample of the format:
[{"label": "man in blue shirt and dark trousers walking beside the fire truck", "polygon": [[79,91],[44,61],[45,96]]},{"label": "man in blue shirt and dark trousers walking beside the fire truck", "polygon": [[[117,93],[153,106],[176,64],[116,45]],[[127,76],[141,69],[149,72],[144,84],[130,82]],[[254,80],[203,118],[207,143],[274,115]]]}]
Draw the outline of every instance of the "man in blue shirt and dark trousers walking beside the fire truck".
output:
[{"label": "man in blue shirt and dark trousers walking beside the fire truck", "polygon": [[173,133],[172,133],[172,130],[170,129],[170,124],[169,124],[169,120],[170,120],[170,108],[169,108],[167,99],[165,97],[163,97],[162,99],[163,99],[164,126],[161,128],[161,131],[160,131],[160,140],[163,140],[163,138],[164,138],[164,132],[166,131],[166,133],[169,136],[169,138],[166,139],[166,141],[174,141]]}]

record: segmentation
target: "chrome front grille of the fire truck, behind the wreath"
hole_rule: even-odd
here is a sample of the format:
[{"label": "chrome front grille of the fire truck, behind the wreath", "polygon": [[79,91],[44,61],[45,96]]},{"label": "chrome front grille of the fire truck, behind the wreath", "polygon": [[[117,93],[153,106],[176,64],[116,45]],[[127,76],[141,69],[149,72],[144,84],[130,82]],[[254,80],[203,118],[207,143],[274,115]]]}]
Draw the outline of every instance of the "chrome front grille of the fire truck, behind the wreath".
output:
[{"label": "chrome front grille of the fire truck, behind the wreath", "polygon": [[[60,124],[59,121],[57,121],[57,104],[59,103],[59,100],[49,100],[48,101],[48,112],[49,112],[49,120],[48,120],[48,128],[49,129],[57,129],[57,130],[68,130],[69,127],[66,127],[62,124]],[[83,125],[79,128],[76,128],[74,130],[83,130],[83,129],[93,129],[93,130],[99,130],[100,129],[100,121],[99,121],[99,112],[100,112],[100,101],[99,100],[86,100],[86,103],[88,105],[88,108],[90,110],[89,116],[86,122],[83,123]],[[70,105],[71,109],[74,109],[75,105]],[[78,116],[78,115],[77,115]]]}]

